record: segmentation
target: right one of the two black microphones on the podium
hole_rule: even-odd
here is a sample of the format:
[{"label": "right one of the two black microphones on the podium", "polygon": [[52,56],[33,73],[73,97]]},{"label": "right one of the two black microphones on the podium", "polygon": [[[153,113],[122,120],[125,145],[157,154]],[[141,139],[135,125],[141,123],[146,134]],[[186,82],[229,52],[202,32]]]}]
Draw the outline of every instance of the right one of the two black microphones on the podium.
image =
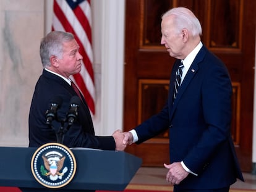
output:
[{"label": "right one of the two black microphones on the podium", "polygon": [[69,111],[67,112],[67,123],[72,125],[78,117],[78,109],[80,104],[80,98],[78,96],[73,96],[70,99]]}]

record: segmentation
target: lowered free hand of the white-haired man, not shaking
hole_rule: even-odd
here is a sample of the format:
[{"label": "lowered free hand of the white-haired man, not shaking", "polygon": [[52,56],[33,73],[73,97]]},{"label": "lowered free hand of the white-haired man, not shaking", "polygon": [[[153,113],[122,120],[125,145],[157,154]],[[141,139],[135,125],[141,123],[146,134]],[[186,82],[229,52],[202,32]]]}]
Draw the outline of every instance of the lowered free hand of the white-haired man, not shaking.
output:
[{"label": "lowered free hand of the white-haired man, not shaking", "polygon": [[181,183],[184,178],[189,175],[189,172],[182,167],[181,162],[174,162],[173,164],[166,165],[164,164],[166,169],[169,169],[166,174],[166,181],[171,183],[172,185],[178,185]]}]

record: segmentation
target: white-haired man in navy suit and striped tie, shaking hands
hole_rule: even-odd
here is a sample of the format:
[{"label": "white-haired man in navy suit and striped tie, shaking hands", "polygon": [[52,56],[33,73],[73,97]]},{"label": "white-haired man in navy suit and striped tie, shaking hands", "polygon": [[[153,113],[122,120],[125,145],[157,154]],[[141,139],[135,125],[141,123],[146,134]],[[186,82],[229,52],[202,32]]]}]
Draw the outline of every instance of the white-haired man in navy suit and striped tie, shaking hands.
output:
[{"label": "white-haired man in navy suit and striped tie, shaking hands", "polygon": [[184,7],[166,12],[161,44],[176,58],[168,102],[124,143],[140,144],[169,128],[170,164],[166,180],[179,191],[227,192],[244,181],[231,137],[232,85],[223,62],[203,45],[197,17]]}]

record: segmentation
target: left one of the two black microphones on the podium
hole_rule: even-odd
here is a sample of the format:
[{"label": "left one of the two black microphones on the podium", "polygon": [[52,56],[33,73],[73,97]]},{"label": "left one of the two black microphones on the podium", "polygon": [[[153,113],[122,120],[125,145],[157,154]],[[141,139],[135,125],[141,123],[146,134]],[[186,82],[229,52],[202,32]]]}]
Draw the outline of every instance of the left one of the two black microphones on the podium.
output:
[{"label": "left one of the two black microphones on the podium", "polygon": [[61,107],[62,101],[61,96],[55,96],[53,99],[51,99],[50,109],[45,112],[46,125],[50,125],[51,122],[56,118],[56,112],[58,111],[59,107]]}]

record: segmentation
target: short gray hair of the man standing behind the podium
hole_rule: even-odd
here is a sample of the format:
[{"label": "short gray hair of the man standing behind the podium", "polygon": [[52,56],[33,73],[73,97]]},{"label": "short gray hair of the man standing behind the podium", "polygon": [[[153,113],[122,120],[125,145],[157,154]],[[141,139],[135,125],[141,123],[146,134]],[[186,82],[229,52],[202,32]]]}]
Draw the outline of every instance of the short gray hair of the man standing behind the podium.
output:
[{"label": "short gray hair of the man standing behind the podium", "polygon": [[62,59],[63,43],[74,40],[72,33],[64,31],[51,31],[46,35],[40,44],[40,57],[43,67],[49,67],[51,65],[49,58],[51,56],[57,56]]}]

